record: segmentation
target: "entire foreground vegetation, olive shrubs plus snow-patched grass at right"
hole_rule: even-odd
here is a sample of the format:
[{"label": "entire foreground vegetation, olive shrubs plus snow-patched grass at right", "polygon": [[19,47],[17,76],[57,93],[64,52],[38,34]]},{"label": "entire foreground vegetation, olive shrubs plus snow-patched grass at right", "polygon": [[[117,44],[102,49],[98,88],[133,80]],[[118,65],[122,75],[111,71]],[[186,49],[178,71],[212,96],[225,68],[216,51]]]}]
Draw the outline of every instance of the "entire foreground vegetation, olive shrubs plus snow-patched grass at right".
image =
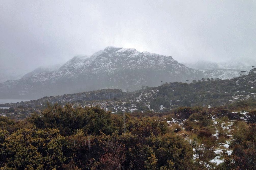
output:
[{"label": "entire foreground vegetation, olive shrubs plus snow-patched grass at right", "polygon": [[[160,116],[119,115],[48,105],[20,121],[0,117],[0,169],[255,169],[255,114],[181,107]],[[210,163],[227,140],[232,155]]]}]

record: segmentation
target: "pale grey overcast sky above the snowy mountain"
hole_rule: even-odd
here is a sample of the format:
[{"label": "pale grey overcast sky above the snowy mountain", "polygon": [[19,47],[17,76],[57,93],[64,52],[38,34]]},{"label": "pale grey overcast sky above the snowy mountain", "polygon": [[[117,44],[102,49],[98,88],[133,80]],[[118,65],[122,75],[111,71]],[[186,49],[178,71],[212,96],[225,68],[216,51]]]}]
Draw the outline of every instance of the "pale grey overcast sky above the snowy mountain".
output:
[{"label": "pale grey overcast sky above the snowy mountain", "polygon": [[1,69],[31,71],[106,46],[179,62],[254,60],[256,1],[0,1]]}]

